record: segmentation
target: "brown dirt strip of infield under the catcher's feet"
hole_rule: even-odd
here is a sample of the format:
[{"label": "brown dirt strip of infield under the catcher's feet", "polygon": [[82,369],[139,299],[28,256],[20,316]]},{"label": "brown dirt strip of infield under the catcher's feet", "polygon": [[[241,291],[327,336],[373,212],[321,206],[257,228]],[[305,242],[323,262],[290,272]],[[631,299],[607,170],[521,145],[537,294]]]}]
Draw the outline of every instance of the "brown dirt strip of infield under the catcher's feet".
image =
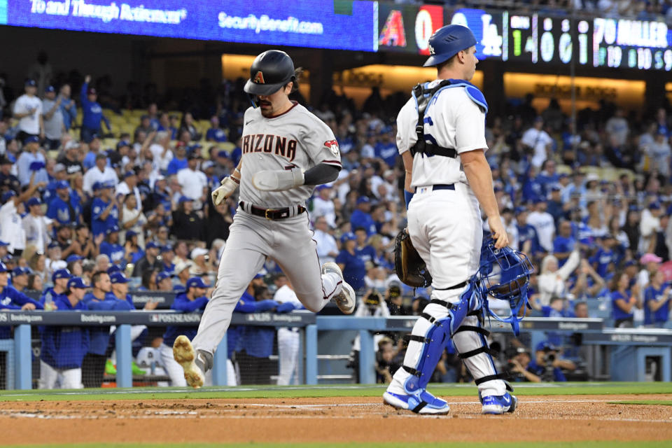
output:
[{"label": "brown dirt strip of infield under the catcher's feet", "polygon": [[672,394],[524,396],[503,416],[479,414],[475,398],[447,399],[447,416],[353,397],[0,402],[0,426],[3,444],[672,440],[672,407],[609,403]]}]

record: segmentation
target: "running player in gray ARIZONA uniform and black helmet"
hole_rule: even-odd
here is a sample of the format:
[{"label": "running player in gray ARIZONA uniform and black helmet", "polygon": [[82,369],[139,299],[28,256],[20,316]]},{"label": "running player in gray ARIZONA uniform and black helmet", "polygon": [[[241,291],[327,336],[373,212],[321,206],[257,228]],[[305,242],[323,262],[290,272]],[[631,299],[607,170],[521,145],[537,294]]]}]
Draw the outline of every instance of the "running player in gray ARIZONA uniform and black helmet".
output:
[{"label": "running player in gray ARIZONA uniform and black helmet", "polygon": [[288,97],[299,75],[279,50],[262,52],[250,68],[244,90],[253,107],[244,116],[241,160],[212,192],[217,205],[240,186],[239,207],[198,333],[193,341],[182,335],[173,344],[174,358],[195,388],[203,385],[236,302],[267,257],[288,276],[307,309],[317,312],[330,300],[345,314],[355,307],[354,290],[339,267],[333,262],[320,267],[309,229],[306,200],[316,185],[337,178],[341,160],[330,128]]}]

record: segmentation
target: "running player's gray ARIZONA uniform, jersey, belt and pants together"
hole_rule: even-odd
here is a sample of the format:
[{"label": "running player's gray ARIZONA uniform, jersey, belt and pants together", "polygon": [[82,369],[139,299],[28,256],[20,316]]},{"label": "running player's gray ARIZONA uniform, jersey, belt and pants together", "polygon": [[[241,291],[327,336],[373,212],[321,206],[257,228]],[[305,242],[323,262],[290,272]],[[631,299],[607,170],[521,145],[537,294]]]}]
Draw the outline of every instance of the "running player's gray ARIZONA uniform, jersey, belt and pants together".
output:
[{"label": "running player's gray ARIZONA uniform, jersey, belt and pants together", "polygon": [[266,257],[290,279],[300,302],[321,310],[342,288],[338,274],[321,274],[316,243],[309,229],[306,200],[314,186],[262,191],[252,177],[262,170],[298,168],[324,163],[341,166],[333,132],[304,106],[294,104],[279,116],[265,118],[260,109],[245,112],[241,137],[240,203],[222,254],[217,283],[194,349],[214,353],[231,322],[231,314]]}]

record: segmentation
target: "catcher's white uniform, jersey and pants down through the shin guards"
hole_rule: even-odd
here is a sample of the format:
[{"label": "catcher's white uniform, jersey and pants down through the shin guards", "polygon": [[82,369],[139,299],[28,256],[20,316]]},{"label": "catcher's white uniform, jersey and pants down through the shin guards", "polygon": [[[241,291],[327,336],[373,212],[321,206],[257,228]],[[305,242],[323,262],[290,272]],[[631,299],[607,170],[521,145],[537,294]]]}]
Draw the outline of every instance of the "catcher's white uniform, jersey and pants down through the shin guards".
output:
[{"label": "catcher's white uniform, jersey and pants down through the shin guards", "polygon": [[[440,80],[434,80],[426,85],[426,89],[438,83]],[[404,367],[395,372],[394,380],[388,387],[388,392],[392,393],[411,393],[417,387],[412,384],[412,373],[416,374],[415,369],[421,370],[421,356],[429,357],[423,339],[429,339],[433,325],[443,323],[449,327],[449,336],[459,353],[479,351],[486,346],[482,332],[467,330],[479,326],[475,312],[457,317],[460,313],[455,309],[457,304],[465,302],[464,297],[472,294],[469,279],[479,267],[483,237],[479,203],[462,170],[460,154],[481,149],[486,151],[486,104],[476,87],[455,84],[442,87],[430,99],[424,113],[423,129],[427,143],[454,149],[456,157],[416,153],[413,158],[411,186],[415,188],[415,194],[407,211],[408,232],[433,277],[433,301],[423,309],[426,318],[420,318],[413,328],[412,337],[416,339],[410,340]],[[470,92],[477,93],[476,99]],[[397,146],[400,154],[409,151],[417,141],[416,108],[416,99],[412,97],[398,114]],[[442,352],[443,349],[444,346],[441,346],[434,350]],[[505,383],[496,379],[496,370],[489,355],[469,353],[463,362],[477,380],[483,396],[505,393]],[[423,370],[422,375],[431,376],[431,372]],[[484,381],[479,383],[480,378]],[[422,379],[420,387],[423,387]]]}]

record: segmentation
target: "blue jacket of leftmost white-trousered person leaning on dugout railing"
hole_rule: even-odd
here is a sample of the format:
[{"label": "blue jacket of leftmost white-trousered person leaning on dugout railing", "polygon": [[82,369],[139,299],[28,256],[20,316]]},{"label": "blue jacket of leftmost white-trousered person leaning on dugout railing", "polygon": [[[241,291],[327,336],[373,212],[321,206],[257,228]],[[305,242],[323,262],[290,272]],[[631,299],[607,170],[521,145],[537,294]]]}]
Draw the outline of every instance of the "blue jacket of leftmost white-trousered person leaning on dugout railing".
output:
[{"label": "blue jacket of leftmost white-trousered person leaning on dugout railing", "polygon": [[[66,295],[59,295],[54,301],[57,311],[85,311],[84,302],[74,307]],[[82,367],[82,360],[89,350],[89,329],[87,327],[67,327],[48,325],[42,327],[42,349],[40,358],[55,369],[76,369]]]}]

